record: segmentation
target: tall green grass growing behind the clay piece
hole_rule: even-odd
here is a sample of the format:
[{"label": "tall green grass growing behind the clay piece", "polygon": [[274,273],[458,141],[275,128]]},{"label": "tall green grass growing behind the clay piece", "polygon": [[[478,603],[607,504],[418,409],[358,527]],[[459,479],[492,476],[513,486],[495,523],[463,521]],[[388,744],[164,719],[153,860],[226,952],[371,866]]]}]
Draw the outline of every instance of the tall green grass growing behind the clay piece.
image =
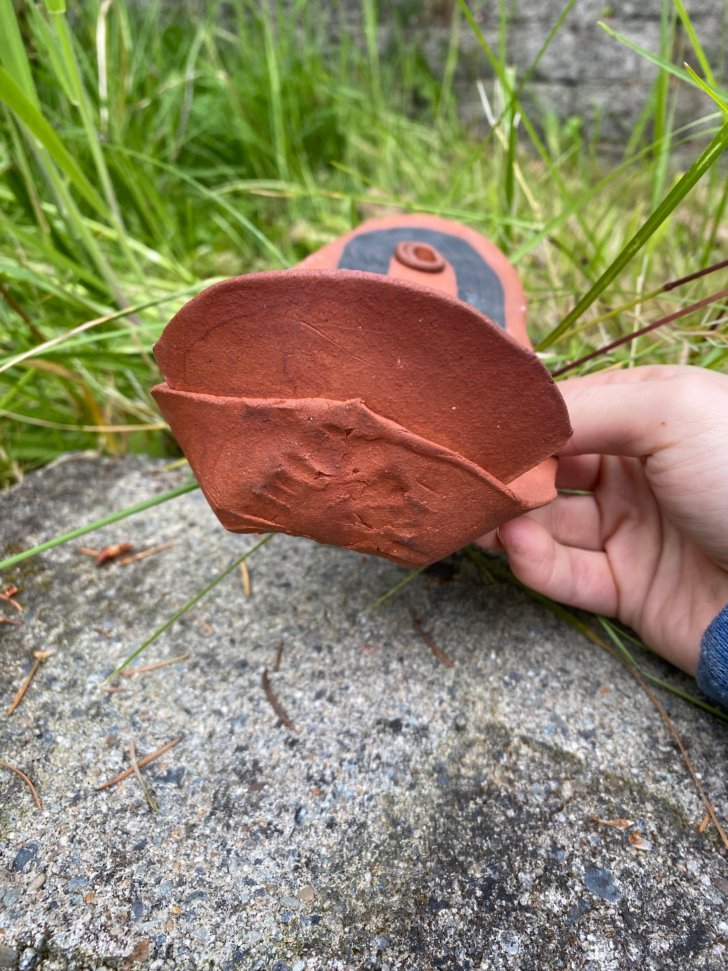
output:
[{"label": "tall green grass growing behind the clay piece", "polygon": [[[480,38],[496,127],[479,142],[460,124],[458,44],[477,30],[462,0],[442,77],[404,29],[378,50],[371,0],[361,44],[322,0],[292,15],[252,0],[197,17],[154,2],[50,12],[61,6],[0,0],[0,483],[77,449],[179,454],[149,396],[151,345],[172,314],[215,279],[292,265],[393,208],[459,219],[507,251],[553,368],[724,283],[584,326],[725,252],[728,188],[712,163],[728,130],[706,173],[676,189],[726,120],[681,3],[665,3],[657,82],[620,164],[575,119],[528,116],[505,18],[497,50]],[[697,81],[670,60],[678,21]],[[678,84],[716,98],[680,131]],[[724,314],[717,304],[589,367],[725,368]]]}]

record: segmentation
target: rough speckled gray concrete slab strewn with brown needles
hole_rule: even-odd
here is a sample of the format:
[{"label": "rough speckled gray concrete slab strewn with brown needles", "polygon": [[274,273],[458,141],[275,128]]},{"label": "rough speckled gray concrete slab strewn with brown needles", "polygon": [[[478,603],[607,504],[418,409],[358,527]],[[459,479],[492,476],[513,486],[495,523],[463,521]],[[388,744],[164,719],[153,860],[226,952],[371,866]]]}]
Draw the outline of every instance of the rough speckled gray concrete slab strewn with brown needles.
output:
[{"label": "rough speckled gray concrete slab strewn with brown needles", "polygon": [[[0,554],[184,475],[72,457],[0,496]],[[623,669],[526,594],[456,558],[458,579],[423,574],[362,622],[405,571],[278,536],[250,559],[251,597],[231,575],[144,656],[188,660],[109,693],[116,663],[253,543],[199,493],[84,537],[118,541],[176,545],[97,569],[74,543],[1,578],[25,611],[0,625],[0,758],[43,812],[0,770],[0,968],[726,966],[728,866],[675,746]],[[37,650],[52,655],[6,718]],[[670,708],[725,813],[724,724]],[[178,735],[142,769],[157,815],[134,777],[95,790],[130,739],[141,757]]]}]

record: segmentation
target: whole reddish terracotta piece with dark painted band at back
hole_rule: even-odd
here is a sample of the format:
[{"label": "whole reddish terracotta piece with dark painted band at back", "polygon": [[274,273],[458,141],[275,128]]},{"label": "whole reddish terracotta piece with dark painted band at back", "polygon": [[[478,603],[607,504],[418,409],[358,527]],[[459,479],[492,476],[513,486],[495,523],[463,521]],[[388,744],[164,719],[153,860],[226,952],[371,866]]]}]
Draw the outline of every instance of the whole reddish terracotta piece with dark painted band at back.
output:
[{"label": "whole reddish terracotta piece with dark painted band at back", "polygon": [[571,427],[503,253],[434,217],[365,222],[215,284],[152,389],[225,528],[435,562],[555,498]]}]

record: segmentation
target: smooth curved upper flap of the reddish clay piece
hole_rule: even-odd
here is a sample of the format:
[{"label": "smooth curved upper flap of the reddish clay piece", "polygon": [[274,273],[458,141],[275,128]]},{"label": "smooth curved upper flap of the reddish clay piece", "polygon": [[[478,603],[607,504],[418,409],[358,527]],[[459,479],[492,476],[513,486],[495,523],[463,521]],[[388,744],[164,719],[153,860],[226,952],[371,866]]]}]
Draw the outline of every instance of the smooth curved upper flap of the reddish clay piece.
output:
[{"label": "smooth curved upper flap of the reddish clay piece", "polygon": [[571,435],[532,351],[456,297],[378,274],[296,268],[222,281],[182,307],[154,354],[173,390],[360,397],[503,483]]}]

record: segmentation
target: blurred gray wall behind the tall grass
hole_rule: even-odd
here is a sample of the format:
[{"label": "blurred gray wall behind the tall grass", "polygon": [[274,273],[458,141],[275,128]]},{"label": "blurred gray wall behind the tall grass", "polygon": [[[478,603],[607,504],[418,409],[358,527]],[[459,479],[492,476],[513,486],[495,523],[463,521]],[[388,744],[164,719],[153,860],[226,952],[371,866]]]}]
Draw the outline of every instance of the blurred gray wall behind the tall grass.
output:
[{"label": "blurred gray wall behind the tall grass", "polygon": [[[361,35],[361,0],[343,0],[354,30]],[[501,3],[472,2],[481,30],[492,50],[499,47]],[[508,18],[507,61],[522,78],[530,68],[549,31],[566,6],[566,0],[506,0]],[[696,34],[717,75],[725,78],[728,8],[722,0],[690,0],[685,4]],[[381,0],[380,49],[386,53],[392,33],[399,29],[408,43],[418,44],[436,77],[442,77],[447,60],[450,0]],[[524,100],[535,119],[552,112],[557,117],[582,117],[586,131],[598,128],[603,143],[623,144],[640,117],[655,79],[656,69],[642,55],[609,36],[612,30],[651,53],[660,50],[662,0],[577,0],[559,33],[546,50],[524,90]],[[395,26],[396,25],[396,26]],[[476,81],[493,72],[469,24],[463,22],[455,93],[461,117],[484,127]],[[678,23],[674,62],[687,60],[698,69],[697,58]],[[675,84],[676,125],[710,114],[710,98],[687,84]]]}]

